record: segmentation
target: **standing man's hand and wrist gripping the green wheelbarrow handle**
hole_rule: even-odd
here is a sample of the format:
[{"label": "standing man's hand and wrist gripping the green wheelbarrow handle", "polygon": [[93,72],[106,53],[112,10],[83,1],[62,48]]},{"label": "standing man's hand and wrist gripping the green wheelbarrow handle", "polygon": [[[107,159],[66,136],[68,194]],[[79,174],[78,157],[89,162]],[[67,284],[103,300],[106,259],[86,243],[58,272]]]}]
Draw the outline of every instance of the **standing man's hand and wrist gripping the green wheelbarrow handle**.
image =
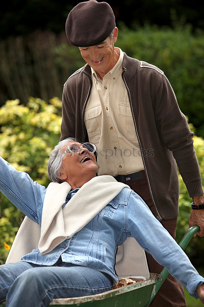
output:
[{"label": "standing man's hand and wrist gripping the green wheelbarrow handle", "polygon": [[[204,202],[204,198],[202,195],[193,196],[193,204],[199,205]],[[192,227],[194,225],[198,225],[200,227],[200,231],[197,232],[196,235],[199,235],[200,237],[204,236],[204,209],[201,210],[192,210],[191,216],[189,219],[189,227]]]}]

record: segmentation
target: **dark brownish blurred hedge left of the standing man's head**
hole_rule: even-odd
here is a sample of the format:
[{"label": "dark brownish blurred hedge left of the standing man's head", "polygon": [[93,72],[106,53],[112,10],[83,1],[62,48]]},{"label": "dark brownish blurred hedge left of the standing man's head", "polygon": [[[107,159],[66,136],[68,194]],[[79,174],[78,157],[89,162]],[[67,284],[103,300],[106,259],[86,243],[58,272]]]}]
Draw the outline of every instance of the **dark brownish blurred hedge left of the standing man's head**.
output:
[{"label": "dark brownish blurred hedge left of the standing man's head", "polygon": [[83,63],[65,33],[35,32],[0,41],[0,105],[17,97],[24,105],[29,96],[61,97],[63,84]]}]

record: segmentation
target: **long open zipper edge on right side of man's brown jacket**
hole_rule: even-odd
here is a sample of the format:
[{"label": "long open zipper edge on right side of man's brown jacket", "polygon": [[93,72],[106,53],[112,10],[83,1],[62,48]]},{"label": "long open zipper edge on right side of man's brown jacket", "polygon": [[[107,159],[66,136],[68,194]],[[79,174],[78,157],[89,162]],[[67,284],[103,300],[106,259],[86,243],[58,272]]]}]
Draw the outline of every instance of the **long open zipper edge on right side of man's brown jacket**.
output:
[{"label": "long open zipper edge on right side of man's brown jacket", "polygon": [[[128,91],[128,98],[129,98],[129,101],[130,101],[130,107],[131,107],[131,112],[132,112],[132,118],[134,120],[134,125],[135,125],[135,132],[137,134],[137,138],[138,138],[138,142],[139,142],[139,147],[140,149],[142,149],[142,145],[141,145],[141,142],[140,142],[140,139],[139,139],[139,136],[138,136],[138,132],[137,132],[137,126],[136,126],[136,121],[135,121],[135,116],[134,116],[134,113],[133,113],[133,108],[132,108],[132,99],[131,99],[131,95],[130,95],[130,90],[128,88],[128,85],[125,81],[125,77],[124,77],[124,73],[126,72],[126,68],[123,70],[122,72],[122,79],[123,79],[123,82],[125,84],[125,87]],[[149,191],[150,191],[150,195],[151,195],[151,198],[153,200],[153,203],[154,203],[154,208],[156,209],[156,213],[157,213],[157,216],[156,218],[161,221],[161,216],[159,215],[159,212],[157,210],[157,207],[156,207],[156,204],[154,202],[154,198],[153,198],[153,195],[152,195],[152,190],[151,190],[151,187],[150,187],[150,181],[149,181],[149,178],[148,178],[148,174],[147,174],[147,168],[146,168],[146,165],[145,165],[145,162],[144,162],[144,157],[143,157],[143,151],[141,150],[141,157],[142,157],[142,161],[143,161],[143,166],[144,166],[144,169],[145,169],[145,173],[146,173],[146,176],[147,176],[147,182],[148,182],[148,187],[149,187]]]}]

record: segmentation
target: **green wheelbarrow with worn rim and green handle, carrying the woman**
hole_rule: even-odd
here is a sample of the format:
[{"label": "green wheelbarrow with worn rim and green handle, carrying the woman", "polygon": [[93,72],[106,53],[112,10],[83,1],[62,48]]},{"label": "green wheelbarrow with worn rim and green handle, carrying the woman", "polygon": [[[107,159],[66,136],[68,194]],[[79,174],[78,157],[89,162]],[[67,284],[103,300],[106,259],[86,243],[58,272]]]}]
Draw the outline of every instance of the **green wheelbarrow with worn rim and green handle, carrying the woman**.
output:
[{"label": "green wheelbarrow with worn rim and green handle, carrying the woman", "polygon": [[[197,225],[188,229],[187,233],[179,243],[183,250],[186,248],[193,235],[199,230],[200,228]],[[133,283],[132,285],[90,296],[55,298],[53,301],[51,301],[49,306],[68,307],[69,305],[72,305],[72,307],[148,307],[168,275],[169,271],[164,268],[160,274],[150,273],[149,279]],[[0,307],[6,307],[6,305],[1,304]]]}]

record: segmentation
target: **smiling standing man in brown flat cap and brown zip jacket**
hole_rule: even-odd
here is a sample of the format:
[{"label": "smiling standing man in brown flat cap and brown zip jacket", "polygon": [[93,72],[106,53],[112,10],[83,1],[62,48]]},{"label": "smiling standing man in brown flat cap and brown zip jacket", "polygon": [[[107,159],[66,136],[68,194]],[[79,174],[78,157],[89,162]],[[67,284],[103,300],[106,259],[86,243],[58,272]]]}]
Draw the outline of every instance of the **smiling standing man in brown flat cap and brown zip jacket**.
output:
[{"label": "smiling standing man in brown flat cap and brown zip jacket", "polygon": [[[87,64],[64,85],[61,140],[95,143],[98,175],[126,182],[173,238],[179,215],[177,163],[193,198],[189,225],[198,224],[203,236],[204,199],[193,132],[164,72],[114,47],[118,29],[106,2],[75,6],[66,34]],[[161,271],[150,255],[147,260],[151,271]],[[186,306],[183,289],[170,275],[151,306]]]}]

